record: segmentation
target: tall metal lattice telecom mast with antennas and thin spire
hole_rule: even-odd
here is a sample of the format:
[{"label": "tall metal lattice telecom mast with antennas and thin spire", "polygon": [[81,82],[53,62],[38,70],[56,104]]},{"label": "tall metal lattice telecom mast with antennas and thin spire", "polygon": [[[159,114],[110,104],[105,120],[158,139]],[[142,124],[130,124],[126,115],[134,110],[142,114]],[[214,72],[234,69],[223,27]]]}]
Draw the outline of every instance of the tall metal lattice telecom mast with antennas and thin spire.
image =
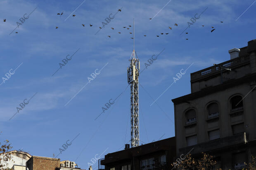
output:
[{"label": "tall metal lattice telecom mast with antennas and thin spire", "polygon": [[127,79],[130,84],[130,123],[131,147],[140,145],[139,137],[139,72],[140,60],[134,50],[134,20],[133,20],[133,53],[130,56],[130,66],[127,68]]}]

